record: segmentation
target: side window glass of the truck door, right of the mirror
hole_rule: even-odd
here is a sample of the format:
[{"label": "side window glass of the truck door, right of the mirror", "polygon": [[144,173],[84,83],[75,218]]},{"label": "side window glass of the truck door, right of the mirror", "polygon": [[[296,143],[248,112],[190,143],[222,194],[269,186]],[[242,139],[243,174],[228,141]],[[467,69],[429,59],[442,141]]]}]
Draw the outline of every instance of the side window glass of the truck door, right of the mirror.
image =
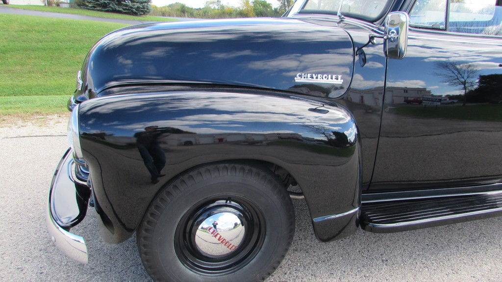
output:
[{"label": "side window glass of the truck door, right of the mirror", "polygon": [[417,0],[410,22],[416,28],[502,36],[502,0]]}]

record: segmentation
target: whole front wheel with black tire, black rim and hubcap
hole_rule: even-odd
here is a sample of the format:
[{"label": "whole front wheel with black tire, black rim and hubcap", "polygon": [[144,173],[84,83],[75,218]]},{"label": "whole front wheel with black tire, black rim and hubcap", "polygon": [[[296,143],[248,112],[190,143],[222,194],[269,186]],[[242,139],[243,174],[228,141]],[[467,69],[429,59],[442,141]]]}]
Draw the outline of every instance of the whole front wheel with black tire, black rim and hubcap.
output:
[{"label": "whole front wheel with black tire, black rim and hubcap", "polygon": [[261,281],[283,259],[294,227],[277,175],[261,166],[216,164],[160,191],[137,241],[156,281]]}]

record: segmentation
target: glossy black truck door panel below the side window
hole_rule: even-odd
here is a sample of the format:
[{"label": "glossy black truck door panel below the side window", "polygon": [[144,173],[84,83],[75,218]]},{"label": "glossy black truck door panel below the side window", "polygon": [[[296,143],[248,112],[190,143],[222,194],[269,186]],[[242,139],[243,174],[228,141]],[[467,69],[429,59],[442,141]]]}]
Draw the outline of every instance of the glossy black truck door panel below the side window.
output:
[{"label": "glossy black truck door panel below the side window", "polygon": [[[382,131],[370,191],[502,182],[501,50],[500,38],[419,29],[410,32],[406,58],[389,60]],[[474,85],[465,103],[462,87],[444,81],[449,72],[445,64],[472,67],[470,80]],[[423,94],[457,95],[451,99],[458,102],[429,107],[403,103],[404,97],[412,99]]]}]

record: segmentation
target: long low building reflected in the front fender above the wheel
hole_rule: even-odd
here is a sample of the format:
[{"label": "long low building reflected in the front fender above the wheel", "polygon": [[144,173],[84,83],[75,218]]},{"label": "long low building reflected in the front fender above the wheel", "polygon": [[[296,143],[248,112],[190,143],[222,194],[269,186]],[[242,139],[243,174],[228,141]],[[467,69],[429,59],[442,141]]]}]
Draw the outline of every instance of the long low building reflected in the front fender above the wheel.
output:
[{"label": "long low building reflected in the front fender above the wheel", "polygon": [[264,143],[279,139],[303,140],[298,133],[220,133],[220,134],[167,134],[162,137],[162,142],[169,146],[190,146],[217,143]]}]

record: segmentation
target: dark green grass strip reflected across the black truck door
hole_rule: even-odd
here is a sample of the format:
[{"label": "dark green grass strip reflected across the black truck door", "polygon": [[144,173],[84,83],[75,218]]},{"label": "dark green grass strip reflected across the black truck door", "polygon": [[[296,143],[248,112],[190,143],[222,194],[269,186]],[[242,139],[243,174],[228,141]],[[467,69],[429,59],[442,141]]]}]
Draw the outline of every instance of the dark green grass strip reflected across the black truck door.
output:
[{"label": "dark green grass strip reflected across the black truck door", "polygon": [[456,104],[439,107],[399,106],[391,111],[396,114],[421,118],[502,121],[502,105],[500,104],[467,104],[465,106]]}]

